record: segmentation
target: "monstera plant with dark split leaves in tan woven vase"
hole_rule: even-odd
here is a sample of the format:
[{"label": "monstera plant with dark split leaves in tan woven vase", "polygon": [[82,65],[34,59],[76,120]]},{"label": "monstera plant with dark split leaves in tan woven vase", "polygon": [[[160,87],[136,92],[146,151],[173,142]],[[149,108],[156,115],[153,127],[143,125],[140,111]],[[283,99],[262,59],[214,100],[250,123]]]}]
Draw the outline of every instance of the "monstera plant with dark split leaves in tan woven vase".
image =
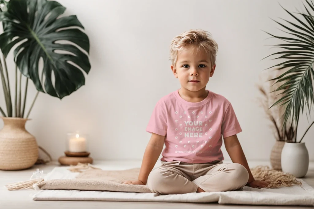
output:
[{"label": "monstera plant with dark split leaves in tan woven vase", "polygon": [[[85,84],[84,75],[90,70],[89,39],[75,15],[62,15],[65,9],[56,1],[0,0],[0,76],[7,107],[6,112],[0,107],[4,121],[0,170],[21,170],[42,162],[35,137],[25,130],[38,93],[61,100]],[[6,63],[10,51],[16,65],[14,102],[9,82],[12,69]],[[22,78],[26,79],[23,102]],[[24,118],[29,80],[38,92]]]}]

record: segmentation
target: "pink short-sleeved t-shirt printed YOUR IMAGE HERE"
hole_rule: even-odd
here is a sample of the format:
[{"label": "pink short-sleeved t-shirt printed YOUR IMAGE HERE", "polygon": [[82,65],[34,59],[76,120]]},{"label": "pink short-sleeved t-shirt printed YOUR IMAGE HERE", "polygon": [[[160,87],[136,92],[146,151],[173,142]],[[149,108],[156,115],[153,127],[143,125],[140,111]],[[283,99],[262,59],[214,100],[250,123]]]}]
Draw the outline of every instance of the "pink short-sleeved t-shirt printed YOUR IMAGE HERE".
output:
[{"label": "pink short-sleeved t-shirt printed YOUR IMAGE HERE", "polygon": [[225,97],[208,91],[201,102],[187,102],[177,90],[157,102],[146,131],[165,136],[162,161],[208,163],[224,160],[222,137],[242,129]]}]

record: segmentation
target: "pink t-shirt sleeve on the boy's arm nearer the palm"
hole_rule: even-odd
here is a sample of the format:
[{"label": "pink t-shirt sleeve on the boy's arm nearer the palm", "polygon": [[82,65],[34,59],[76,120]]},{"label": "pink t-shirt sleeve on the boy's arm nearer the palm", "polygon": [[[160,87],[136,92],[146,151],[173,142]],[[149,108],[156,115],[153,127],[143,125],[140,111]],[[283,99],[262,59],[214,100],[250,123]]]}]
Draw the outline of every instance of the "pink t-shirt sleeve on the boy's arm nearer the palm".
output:
[{"label": "pink t-shirt sleeve on the boy's arm nearer the palm", "polygon": [[232,105],[229,103],[221,125],[221,134],[224,138],[226,138],[240,133],[241,131],[242,129],[236,117],[236,113],[234,112]]}]

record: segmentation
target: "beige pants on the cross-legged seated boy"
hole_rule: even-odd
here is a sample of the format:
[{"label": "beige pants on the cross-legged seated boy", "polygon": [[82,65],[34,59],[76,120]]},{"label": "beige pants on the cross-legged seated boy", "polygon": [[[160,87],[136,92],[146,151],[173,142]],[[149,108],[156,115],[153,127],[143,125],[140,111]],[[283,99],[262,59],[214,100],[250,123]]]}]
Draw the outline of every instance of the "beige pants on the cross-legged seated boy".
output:
[{"label": "beige pants on the cross-legged seated boy", "polygon": [[163,162],[153,169],[147,180],[150,190],[157,194],[185,194],[196,192],[232,191],[246,185],[249,174],[238,163],[184,163]]}]

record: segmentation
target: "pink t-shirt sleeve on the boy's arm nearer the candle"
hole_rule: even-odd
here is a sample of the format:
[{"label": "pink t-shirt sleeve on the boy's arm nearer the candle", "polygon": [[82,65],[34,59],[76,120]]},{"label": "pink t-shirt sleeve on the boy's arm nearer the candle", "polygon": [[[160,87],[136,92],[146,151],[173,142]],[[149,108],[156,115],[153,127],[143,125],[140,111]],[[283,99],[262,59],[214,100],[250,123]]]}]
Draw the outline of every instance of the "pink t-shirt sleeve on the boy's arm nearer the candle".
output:
[{"label": "pink t-shirt sleeve on the boy's arm nearer the candle", "polygon": [[161,136],[165,136],[167,133],[167,116],[165,114],[165,107],[161,102],[157,102],[154,111],[149,119],[149,123],[146,127],[148,133],[156,133]]}]

